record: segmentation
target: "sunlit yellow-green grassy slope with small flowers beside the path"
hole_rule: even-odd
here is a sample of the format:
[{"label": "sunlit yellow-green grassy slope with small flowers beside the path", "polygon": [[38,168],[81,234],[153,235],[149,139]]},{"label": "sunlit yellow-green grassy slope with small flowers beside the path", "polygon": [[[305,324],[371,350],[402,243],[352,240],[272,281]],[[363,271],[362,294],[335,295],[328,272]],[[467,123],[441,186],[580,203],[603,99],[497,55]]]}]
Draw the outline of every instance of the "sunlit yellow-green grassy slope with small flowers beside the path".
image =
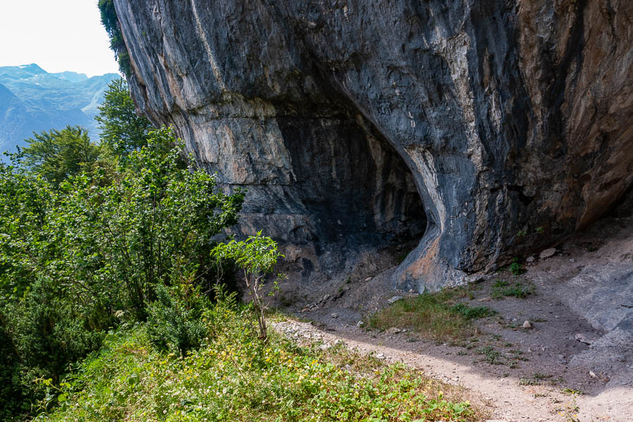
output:
[{"label": "sunlit yellow-green grassy slope with small flowers beside the path", "polygon": [[[108,335],[40,421],[476,421],[451,387],[343,346],[300,347],[252,335],[239,309],[220,309],[186,357],[156,352],[142,326]],[[447,392],[447,396],[445,393]],[[448,398],[450,397],[450,398]]]}]

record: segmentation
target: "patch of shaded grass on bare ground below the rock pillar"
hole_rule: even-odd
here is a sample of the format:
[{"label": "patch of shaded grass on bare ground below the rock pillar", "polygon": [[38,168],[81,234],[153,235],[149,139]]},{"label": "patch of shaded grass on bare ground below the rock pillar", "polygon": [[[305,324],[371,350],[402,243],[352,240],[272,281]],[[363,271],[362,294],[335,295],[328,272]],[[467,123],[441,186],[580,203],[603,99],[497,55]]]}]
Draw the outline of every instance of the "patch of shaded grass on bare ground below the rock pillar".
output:
[{"label": "patch of shaded grass on bare ground below the rock pillar", "polygon": [[407,327],[433,340],[464,338],[475,333],[471,320],[494,314],[487,307],[469,307],[456,303],[467,295],[463,289],[447,289],[404,298],[369,318],[369,326],[386,330]]}]

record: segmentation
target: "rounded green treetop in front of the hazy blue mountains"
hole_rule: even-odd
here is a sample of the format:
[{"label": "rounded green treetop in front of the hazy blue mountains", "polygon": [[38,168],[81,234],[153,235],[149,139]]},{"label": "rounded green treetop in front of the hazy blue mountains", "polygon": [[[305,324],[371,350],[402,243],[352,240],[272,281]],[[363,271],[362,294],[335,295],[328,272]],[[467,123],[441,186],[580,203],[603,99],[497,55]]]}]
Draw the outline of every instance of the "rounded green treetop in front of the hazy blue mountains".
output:
[{"label": "rounded green treetop in front of the hazy blue mountains", "polygon": [[53,184],[87,170],[100,153],[88,131],[79,126],[34,133],[26,141],[28,145],[18,153],[21,164]]}]

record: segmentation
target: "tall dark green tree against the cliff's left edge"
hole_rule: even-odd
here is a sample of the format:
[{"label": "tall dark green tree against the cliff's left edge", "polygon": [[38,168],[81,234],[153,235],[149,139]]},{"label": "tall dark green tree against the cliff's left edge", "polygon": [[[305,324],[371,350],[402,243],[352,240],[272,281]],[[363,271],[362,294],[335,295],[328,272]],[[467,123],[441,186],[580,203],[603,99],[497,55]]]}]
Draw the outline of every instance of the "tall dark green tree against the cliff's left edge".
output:
[{"label": "tall dark green tree against the cliff's left edge", "polygon": [[146,146],[148,133],[153,127],[145,116],[136,114],[125,79],[110,82],[104,97],[95,117],[101,129],[101,142],[124,157]]}]

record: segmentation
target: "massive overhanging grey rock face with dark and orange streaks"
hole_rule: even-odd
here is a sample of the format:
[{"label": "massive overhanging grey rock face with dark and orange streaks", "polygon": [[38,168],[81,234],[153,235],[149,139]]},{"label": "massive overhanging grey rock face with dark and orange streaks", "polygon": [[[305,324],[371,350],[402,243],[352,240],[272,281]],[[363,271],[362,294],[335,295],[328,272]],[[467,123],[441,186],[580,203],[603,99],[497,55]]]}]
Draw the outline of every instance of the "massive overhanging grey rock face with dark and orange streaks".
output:
[{"label": "massive overhanging grey rock face with dark and orange streaks", "polygon": [[400,288],[537,252],[633,181],[629,0],[115,0],[137,106],[306,279],[418,238]]}]

